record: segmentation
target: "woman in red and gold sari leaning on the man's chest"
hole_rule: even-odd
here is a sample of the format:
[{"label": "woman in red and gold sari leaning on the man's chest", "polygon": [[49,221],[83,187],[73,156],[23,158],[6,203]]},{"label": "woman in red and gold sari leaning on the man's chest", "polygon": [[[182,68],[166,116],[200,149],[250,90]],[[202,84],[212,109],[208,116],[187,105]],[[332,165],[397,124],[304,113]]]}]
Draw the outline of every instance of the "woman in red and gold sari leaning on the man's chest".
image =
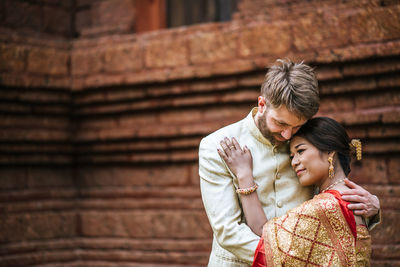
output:
[{"label": "woman in red and gold sari leaning on the man's chest", "polygon": [[314,185],[319,193],[269,221],[257,194],[252,194],[257,184],[251,153],[234,138],[232,143],[235,149],[218,152],[238,178],[247,224],[262,236],[253,266],[370,265],[371,238],[366,224],[341,197],[348,189],[344,181],[350,173],[351,144],[361,158],[360,141],[350,143],[342,125],[326,117],[313,118],[294,135],[290,141],[292,168],[301,185]]}]

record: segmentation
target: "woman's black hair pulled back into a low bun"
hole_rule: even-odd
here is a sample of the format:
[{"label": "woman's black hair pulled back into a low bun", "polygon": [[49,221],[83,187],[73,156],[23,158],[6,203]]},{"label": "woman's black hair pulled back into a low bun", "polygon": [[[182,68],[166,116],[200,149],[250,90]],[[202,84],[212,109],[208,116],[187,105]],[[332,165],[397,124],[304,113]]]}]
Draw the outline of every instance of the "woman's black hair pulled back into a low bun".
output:
[{"label": "woman's black hair pulled back into a low bun", "polygon": [[305,138],[321,152],[336,151],[344,174],[350,173],[350,139],[337,121],[328,117],[312,118],[294,136]]}]

